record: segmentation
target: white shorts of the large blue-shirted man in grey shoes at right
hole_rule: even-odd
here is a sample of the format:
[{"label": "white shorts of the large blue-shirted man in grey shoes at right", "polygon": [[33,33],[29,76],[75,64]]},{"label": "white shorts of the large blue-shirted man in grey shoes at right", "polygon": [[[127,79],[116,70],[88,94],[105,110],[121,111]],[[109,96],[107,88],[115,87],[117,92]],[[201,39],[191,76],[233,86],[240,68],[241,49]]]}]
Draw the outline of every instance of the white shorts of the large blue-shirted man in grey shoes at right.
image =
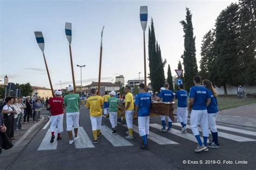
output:
[{"label": "white shorts of the large blue-shirted man in grey shoes at right", "polygon": [[190,114],[190,127],[194,135],[199,135],[198,124],[200,123],[203,137],[208,137],[208,113],[207,110],[192,110]]}]

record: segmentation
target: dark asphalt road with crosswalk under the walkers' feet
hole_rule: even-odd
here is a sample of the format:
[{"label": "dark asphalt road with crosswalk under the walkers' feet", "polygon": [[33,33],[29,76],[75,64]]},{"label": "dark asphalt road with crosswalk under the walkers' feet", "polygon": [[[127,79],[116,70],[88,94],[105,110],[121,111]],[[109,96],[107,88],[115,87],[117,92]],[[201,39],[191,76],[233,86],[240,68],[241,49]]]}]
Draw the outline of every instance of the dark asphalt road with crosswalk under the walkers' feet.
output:
[{"label": "dark asphalt road with crosswalk under the walkers' feet", "polygon": [[[120,122],[120,120],[118,120]],[[62,140],[53,142],[51,150],[38,151],[44,138],[46,139],[48,128],[41,129],[29,144],[19,154],[19,157],[9,166],[10,169],[255,169],[256,168],[256,135],[254,128],[218,124],[220,148],[209,148],[208,152],[194,152],[197,143],[190,138],[192,131],[181,134],[179,124],[173,125],[173,134],[159,132],[160,118],[153,117],[150,120],[149,150],[139,148],[142,140],[138,133],[134,133],[134,139],[125,139],[125,120],[118,124],[117,133],[120,139],[128,141],[132,146],[113,146],[111,139],[103,135],[99,144],[94,148],[76,148],[75,144],[68,144],[68,134],[65,129]],[[103,117],[102,125],[109,128],[109,119]],[[133,125],[138,125],[134,119]],[[93,139],[91,122],[87,108],[80,109],[80,126],[83,127],[89,138]],[[226,128],[230,127],[230,128]],[[112,135],[112,134],[111,134]],[[184,135],[184,136],[182,136]],[[49,136],[49,135],[48,135]],[[154,138],[156,137],[156,138]],[[210,135],[211,137],[211,135]],[[110,136],[111,138],[111,136]],[[228,139],[227,139],[228,138]],[[82,140],[80,138],[79,140]],[[121,140],[120,140],[121,141]],[[52,144],[47,146],[50,146]],[[162,143],[163,142],[163,143]],[[57,144],[57,145],[56,145]],[[90,144],[90,142],[88,143]],[[165,144],[165,145],[163,145]],[[244,164],[236,164],[237,161],[247,161]]]}]

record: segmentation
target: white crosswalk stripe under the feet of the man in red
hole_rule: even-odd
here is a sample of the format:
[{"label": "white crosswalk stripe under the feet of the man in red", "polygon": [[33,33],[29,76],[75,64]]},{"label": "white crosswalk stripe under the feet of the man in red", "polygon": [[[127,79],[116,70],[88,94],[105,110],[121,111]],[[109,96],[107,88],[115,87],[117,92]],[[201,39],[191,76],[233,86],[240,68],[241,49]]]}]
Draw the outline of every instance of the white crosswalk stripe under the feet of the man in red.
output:
[{"label": "white crosswalk stripe under the feet of the man in red", "polygon": [[[55,134],[57,134],[57,129],[55,130]],[[55,138],[53,143],[50,143],[50,139],[51,139],[51,129],[49,128],[49,130],[47,131],[47,133],[44,136],[44,139],[43,139],[41,145],[38,147],[37,151],[56,150],[58,141]]]}]

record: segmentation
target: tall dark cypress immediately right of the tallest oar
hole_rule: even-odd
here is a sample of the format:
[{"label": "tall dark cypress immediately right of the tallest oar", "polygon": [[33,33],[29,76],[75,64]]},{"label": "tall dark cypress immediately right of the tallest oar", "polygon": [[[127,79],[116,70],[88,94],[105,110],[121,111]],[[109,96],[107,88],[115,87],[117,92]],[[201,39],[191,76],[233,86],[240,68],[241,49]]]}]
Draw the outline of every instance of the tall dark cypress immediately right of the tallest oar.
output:
[{"label": "tall dark cypress immediately right of the tallest oar", "polygon": [[154,92],[158,91],[165,83],[164,67],[166,59],[161,57],[161,49],[154,33],[153,19],[151,19],[151,26],[149,28],[149,78]]}]

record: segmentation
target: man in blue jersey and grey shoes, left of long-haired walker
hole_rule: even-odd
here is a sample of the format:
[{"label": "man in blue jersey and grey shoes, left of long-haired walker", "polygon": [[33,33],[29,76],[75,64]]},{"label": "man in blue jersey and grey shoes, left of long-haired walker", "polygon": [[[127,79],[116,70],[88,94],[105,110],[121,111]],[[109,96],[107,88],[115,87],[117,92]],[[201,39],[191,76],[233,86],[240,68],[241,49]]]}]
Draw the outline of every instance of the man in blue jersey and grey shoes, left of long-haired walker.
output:
[{"label": "man in blue jersey and grey shoes, left of long-haired walker", "polygon": [[[190,127],[198,141],[198,146],[195,152],[208,151],[207,137],[208,137],[208,115],[207,106],[211,103],[211,96],[206,87],[200,86],[201,77],[194,77],[194,86],[190,89]],[[204,144],[201,141],[198,124],[200,123],[203,131]]]}]

